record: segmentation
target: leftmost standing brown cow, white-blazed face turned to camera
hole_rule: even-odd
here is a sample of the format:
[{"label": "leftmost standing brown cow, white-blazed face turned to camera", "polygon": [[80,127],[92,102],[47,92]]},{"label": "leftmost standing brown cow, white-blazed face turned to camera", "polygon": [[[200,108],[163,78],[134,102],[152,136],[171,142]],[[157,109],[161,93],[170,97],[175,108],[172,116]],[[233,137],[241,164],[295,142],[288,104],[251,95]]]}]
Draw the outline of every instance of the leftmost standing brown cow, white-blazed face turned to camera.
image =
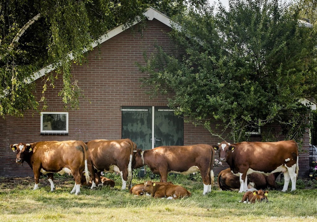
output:
[{"label": "leftmost standing brown cow, white-blazed face turned to camera", "polygon": [[72,174],[75,186],[70,193],[77,195],[80,192],[81,174],[86,173],[86,180],[89,182],[87,168],[87,145],[82,141],[42,141],[36,143],[19,143],[10,145],[13,152],[16,152],[16,163],[29,164],[33,169],[35,186],[38,188],[41,174],[47,174],[51,184],[51,191],[55,189],[53,173]]}]

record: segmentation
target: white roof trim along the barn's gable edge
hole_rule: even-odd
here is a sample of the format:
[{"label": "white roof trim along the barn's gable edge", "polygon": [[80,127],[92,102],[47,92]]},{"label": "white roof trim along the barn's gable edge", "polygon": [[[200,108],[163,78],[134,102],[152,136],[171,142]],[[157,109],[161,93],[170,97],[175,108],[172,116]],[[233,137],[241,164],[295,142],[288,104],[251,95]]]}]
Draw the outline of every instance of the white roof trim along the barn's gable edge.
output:
[{"label": "white roof trim along the barn's gable edge", "polygon": [[[162,14],[158,10],[153,9],[152,7],[150,7],[148,10],[146,10],[146,12],[144,12],[143,15],[145,15],[149,20],[153,20],[155,18],[155,19],[159,20],[161,23],[163,23],[169,27],[173,26],[173,27],[176,27],[176,29],[179,29],[178,27],[180,27],[178,23],[173,22],[168,16]],[[92,43],[92,48],[95,48],[99,44],[106,42],[108,39],[111,39],[112,37],[120,34],[124,30],[132,27],[133,25],[135,25],[139,22],[140,22],[140,18],[137,17],[136,21],[133,24],[130,24],[130,25],[122,24],[122,25],[119,25],[113,29],[110,29],[109,31],[107,31],[107,33],[105,35],[101,36],[98,40],[96,40]],[[85,53],[87,51],[88,51],[88,49],[84,49],[83,53]],[[74,59],[72,52],[68,53],[68,58],[69,58],[69,60]],[[54,68],[53,65],[50,64],[50,65],[34,72],[33,76],[30,76],[28,79],[24,79],[24,82],[31,83],[31,82],[41,78],[43,75],[53,71],[54,69],[56,69],[56,68]]]}]

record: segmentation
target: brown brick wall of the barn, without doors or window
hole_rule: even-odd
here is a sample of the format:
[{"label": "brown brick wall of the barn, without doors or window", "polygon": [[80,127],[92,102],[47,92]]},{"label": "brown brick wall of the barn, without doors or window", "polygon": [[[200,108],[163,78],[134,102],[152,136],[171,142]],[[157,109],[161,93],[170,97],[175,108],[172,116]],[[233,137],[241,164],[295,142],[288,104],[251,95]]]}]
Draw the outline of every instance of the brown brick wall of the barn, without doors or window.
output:
[{"label": "brown brick wall of the barn, without doors or window", "polygon": [[[172,95],[160,95],[150,98],[140,88],[140,78],[146,74],[140,73],[135,62],[144,64],[142,54],[147,55],[154,50],[154,45],[173,50],[169,37],[170,29],[157,20],[149,21],[143,30],[143,37],[131,29],[107,40],[99,49],[87,53],[88,63],[74,65],[72,74],[78,80],[78,85],[84,90],[85,99],[80,100],[80,109],[69,111],[68,135],[41,135],[40,114],[36,111],[26,111],[23,118],[6,116],[0,119],[0,176],[33,176],[27,163],[23,166],[15,163],[16,155],[9,148],[10,144],[32,143],[47,140],[83,140],[121,139],[121,106],[166,106],[167,98]],[[43,78],[36,80],[36,95],[40,99]],[[55,81],[55,89],[49,87],[45,96],[49,108],[45,111],[63,112],[63,103],[57,95],[62,86],[62,80]],[[214,126],[215,127],[215,126]],[[195,127],[184,123],[184,145],[206,143],[210,145],[221,142],[211,136],[203,127]],[[308,143],[307,143],[308,147]],[[218,158],[218,154],[215,154]],[[302,154],[301,167],[307,163],[308,155]],[[216,167],[215,173],[228,168]],[[307,167],[308,171],[308,167]],[[306,170],[301,170],[305,176]]]}]

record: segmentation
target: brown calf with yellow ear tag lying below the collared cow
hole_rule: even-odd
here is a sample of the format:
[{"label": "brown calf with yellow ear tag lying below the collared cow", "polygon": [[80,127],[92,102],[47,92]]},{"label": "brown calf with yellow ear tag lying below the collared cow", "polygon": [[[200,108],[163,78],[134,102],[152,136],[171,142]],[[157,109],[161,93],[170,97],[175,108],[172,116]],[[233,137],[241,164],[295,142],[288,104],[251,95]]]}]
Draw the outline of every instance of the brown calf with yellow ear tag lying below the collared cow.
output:
[{"label": "brown calf with yellow ear tag lying below the collared cow", "polygon": [[151,193],[154,198],[167,198],[167,199],[178,199],[182,197],[189,197],[191,192],[186,190],[184,187],[172,184],[158,184],[148,180],[144,183],[142,190],[145,193]]}]

